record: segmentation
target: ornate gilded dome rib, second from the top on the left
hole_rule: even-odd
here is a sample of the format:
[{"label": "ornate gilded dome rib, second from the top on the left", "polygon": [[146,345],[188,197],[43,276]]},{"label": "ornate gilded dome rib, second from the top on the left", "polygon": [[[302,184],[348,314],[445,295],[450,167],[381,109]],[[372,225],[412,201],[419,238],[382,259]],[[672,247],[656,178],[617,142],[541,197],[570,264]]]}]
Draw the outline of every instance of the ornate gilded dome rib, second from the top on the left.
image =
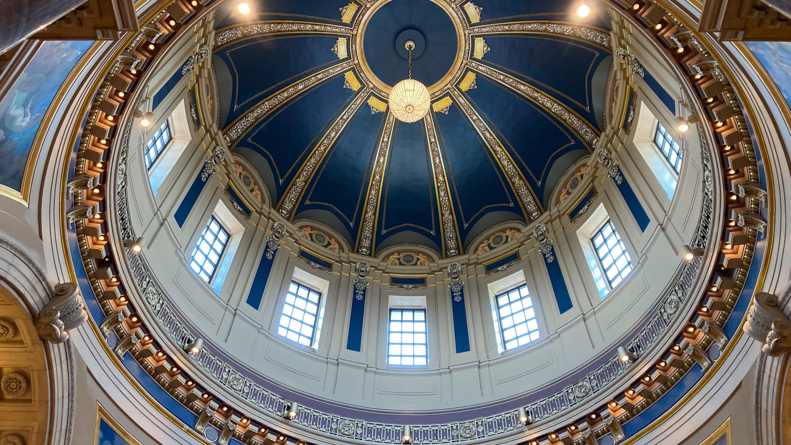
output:
[{"label": "ornate gilded dome rib, second from the top on the left", "polygon": [[259,120],[262,120],[275,108],[278,108],[280,105],[290,101],[293,99],[293,97],[297,97],[297,95],[300,93],[304,93],[310,87],[324,82],[327,79],[335,76],[335,74],[339,74],[351,67],[354,67],[354,62],[347,60],[346,62],[339,63],[334,67],[329,67],[326,70],[322,70],[316,74],[313,74],[312,76],[308,76],[308,78],[304,78],[299,82],[294,82],[290,86],[286,86],[286,88],[273,93],[270,97],[267,97],[261,101],[259,105],[255,105],[255,107],[248,110],[248,112],[237,117],[237,119],[234,120],[233,123],[223,131],[225,143],[228,143],[228,145],[231,146],[251,127],[257,124]]}]

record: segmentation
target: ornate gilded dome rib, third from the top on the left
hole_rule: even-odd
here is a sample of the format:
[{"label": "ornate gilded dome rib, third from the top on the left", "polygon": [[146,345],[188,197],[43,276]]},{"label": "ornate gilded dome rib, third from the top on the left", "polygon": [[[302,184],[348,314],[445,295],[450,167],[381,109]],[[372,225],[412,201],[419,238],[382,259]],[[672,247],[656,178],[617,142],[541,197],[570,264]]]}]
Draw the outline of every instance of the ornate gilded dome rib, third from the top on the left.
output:
[{"label": "ornate gilded dome rib, third from the top on the left", "polygon": [[316,147],[313,149],[312,153],[308,157],[308,160],[305,161],[300,167],[299,173],[294,177],[289,184],[289,187],[286,189],[286,193],[283,194],[283,197],[278,204],[278,213],[286,219],[291,219],[293,216],[293,211],[297,207],[297,203],[301,200],[302,195],[305,193],[305,187],[308,185],[308,182],[313,177],[313,173],[316,172],[316,167],[324,160],[324,155],[327,154],[327,151],[330,149],[332,144],[335,143],[335,140],[339,138],[343,129],[346,127],[346,124],[349,123],[352,116],[358,109],[360,105],[365,103],[365,97],[371,92],[369,88],[362,89],[361,93],[358,94],[358,97],[354,98],[354,101],[346,107],[346,110],[343,111],[341,116],[335,120],[335,124],[332,124],[329,130],[324,133],[324,136],[321,138],[320,142],[316,144]]}]

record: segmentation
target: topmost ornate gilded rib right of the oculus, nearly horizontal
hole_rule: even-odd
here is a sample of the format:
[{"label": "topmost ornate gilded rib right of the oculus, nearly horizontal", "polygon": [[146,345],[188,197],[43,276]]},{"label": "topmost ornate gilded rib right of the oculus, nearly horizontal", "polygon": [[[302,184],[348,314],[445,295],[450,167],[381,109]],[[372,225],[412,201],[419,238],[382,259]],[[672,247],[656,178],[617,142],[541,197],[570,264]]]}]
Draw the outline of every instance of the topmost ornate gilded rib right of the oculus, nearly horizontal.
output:
[{"label": "topmost ornate gilded rib right of the oculus, nearly horizontal", "polygon": [[606,29],[596,26],[583,26],[564,21],[512,21],[498,25],[477,26],[469,29],[472,35],[479,34],[543,34],[547,36],[568,37],[573,40],[595,44],[597,47],[612,51],[612,37]]}]

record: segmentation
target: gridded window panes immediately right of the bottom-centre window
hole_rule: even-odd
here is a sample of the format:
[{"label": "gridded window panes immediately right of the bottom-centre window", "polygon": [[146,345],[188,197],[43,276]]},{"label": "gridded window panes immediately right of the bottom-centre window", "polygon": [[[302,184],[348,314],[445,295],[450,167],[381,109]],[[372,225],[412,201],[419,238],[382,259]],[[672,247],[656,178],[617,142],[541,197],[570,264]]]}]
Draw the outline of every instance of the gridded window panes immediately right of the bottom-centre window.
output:
[{"label": "gridded window panes immediately right of the bottom-centre window", "polygon": [[500,335],[505,350],[539,339],[536,308],[526,284],[494,297],[497,302]]}]

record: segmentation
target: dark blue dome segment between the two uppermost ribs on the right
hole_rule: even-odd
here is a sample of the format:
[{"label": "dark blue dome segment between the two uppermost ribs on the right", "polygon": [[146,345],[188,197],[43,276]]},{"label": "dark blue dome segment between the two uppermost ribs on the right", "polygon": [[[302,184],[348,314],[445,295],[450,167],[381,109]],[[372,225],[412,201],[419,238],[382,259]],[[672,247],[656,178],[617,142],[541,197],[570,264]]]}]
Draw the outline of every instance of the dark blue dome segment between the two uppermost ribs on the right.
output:
[{"label": "dark blue dome segment between the two uppermost ribs on the right", "polygon": [[578,40],[532,34],[486,36],[486,45],[491,50],[483,63],[540,89],[596,123],[593,74],[609,55],[607,51]]}]

